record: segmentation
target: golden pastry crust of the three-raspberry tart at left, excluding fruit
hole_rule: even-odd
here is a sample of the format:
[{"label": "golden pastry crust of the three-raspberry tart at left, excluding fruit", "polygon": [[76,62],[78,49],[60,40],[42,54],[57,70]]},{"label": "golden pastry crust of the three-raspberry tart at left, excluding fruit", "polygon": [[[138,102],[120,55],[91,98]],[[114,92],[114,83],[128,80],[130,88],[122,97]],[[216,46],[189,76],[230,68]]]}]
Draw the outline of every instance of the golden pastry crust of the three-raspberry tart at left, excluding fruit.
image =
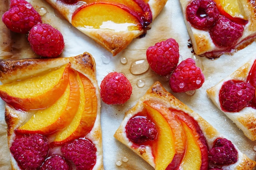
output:
[{"label": "golden pastry crust of the three-raspberry tart at left, excluding fruit", "polygon": [[[97,115],[92,130],[85,136],[93,141],[97,148],[97,162],[93,170],[103,170],[103,150],[100,124],[100,95],[99,86],[96,79],[96,65],[90,53],[83,53],[75,57],[58,57],[53,59],[21,59],[21,60],[0,60],[0,80],[3,84],[16,79],[29,77],[36,73],[57,68],[67,63],[71,63],[71,68],[85,75],[95,88],[97,97]],[[5,121],[7,123],[8,146],[11,147],[16,138],[15,130],[29,119],[29,114],[22,110],[16,110],[9,104],[5,105]],[[11,155],[11,154],[10,154]],[[12,170],[20,170],[16,160],[11,155]]]}]

